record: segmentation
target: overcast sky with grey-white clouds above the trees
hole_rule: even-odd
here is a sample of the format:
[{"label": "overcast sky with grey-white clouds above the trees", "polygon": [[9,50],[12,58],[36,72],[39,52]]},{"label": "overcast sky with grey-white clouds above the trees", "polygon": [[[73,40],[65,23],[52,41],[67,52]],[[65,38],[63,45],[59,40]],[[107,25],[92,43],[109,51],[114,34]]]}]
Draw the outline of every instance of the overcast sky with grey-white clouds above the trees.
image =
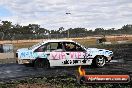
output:
[{"label": "overcast sky with grey-white clouds above the trees", "polygon": [[0,0],[0,20],[47,29],[121,28],[132,24],[132,0]]}]

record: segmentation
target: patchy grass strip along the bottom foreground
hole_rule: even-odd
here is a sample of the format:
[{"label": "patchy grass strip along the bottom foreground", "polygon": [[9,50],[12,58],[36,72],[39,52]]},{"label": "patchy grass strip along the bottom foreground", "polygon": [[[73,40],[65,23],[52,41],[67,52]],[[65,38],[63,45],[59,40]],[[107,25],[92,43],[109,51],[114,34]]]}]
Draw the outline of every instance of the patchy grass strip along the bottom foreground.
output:
[{"label": "patchy grass strip along the bottom foreground", "polygon": [[[0,88],[15,88],[19,86],[23,86],[25,88],[30,88],[30,86],[34,86],[33,88],[46,86],[48,88],[132,88],[132,82],[130,83],[101,83],[101,84],[83,84],[80,85],[76,81],[76,77],[61,75],[54,77],[36,77],[36,78],[27,78],[24,80],[14,81],[12,83],[0,84]],[[35,87],[36,86],[36,87]],[[45,88],[46,88],[45,87]]]}]

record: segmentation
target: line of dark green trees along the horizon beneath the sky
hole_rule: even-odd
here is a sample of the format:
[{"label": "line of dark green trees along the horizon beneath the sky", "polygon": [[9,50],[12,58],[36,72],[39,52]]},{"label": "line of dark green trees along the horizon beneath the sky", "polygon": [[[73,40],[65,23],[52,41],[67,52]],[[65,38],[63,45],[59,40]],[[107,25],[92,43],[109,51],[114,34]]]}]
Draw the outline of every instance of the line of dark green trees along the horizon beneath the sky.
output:
[{"label": "line of dark green trees along the horizon beneath the sky", "polygon": [[[69,33],[69,36],[68,36]],[[88,30],[86,28],[69,28],[60,27],[56,30],[50,30],[40,27],[38,24],[29,24],[22,26],[13,25],[10,21],[1,21],[0,23],[0,40],[14,39],[40,39],[40,38],[67,38],[67,37],[86,37],[93,35],[113,35],[113,34],[132,34],[132,25],[127,24],[120,29],[96,28]]]}]

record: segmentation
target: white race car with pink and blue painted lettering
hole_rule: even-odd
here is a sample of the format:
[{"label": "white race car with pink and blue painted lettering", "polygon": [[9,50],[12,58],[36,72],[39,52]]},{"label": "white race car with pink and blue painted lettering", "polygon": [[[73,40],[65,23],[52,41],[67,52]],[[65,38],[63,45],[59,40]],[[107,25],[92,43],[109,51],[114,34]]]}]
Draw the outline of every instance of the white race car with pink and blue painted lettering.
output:
[{"label": "white race car with pink and blue painted lettering", "polygon": [[103,67],[113,57],[105,49],[85,48],[72,40],[46,40],[16,52],[17,63],[32,63],[35,67],[94,65]]}]

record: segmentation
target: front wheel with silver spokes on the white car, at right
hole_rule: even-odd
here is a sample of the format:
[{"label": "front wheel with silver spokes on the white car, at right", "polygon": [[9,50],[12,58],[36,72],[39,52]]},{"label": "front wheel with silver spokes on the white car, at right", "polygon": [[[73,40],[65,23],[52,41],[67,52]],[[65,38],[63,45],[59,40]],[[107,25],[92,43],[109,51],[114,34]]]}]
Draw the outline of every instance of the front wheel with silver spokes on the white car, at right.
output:
[{"label": "front wheel with silver spokes on the white car, at right", "polygon": [[105,62],[106,62],[106,60],[105,60],[105,57],[104,56],[96,56],[93,59],[93,65],[95,67],[99,67],[99,68],[104,67]]}]

